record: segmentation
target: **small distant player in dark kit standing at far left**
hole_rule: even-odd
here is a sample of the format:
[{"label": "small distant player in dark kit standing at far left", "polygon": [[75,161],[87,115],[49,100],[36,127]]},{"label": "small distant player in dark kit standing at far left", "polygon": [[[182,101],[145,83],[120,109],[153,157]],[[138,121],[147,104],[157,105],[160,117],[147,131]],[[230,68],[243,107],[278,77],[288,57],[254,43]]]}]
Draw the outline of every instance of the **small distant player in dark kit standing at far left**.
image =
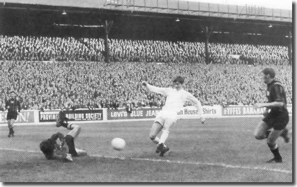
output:
[{"label": "small distant player in dark kit standing at far left", "polygon": [[10,99],[5,103],[5,109],[8,110],[6,117],[9,128],[8,137],[13,137],[15,134],[13,125],[17,120],[18,112],[20,112],[20,103],[16,99],[16,93],[14,91],[10,92]]}]

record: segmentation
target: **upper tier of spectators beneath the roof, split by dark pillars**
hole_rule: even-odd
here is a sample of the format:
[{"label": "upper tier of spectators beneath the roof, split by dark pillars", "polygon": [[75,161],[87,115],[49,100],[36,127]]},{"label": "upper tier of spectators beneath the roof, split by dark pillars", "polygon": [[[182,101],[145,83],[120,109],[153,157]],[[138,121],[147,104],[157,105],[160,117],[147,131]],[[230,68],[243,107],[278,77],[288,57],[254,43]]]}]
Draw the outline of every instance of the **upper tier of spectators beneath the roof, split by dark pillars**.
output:
[{"label": "upper tier of spectators beneath the roof, split by dark pillars", "polygon": [[[113,62],[205,62],[202,42],[110,39],[109,49]],[[289,63],[285,46],[209,43],[208,49],[216,64]],[[103,61],[103,53],[103,39],[0,35],[0,60]]]}]

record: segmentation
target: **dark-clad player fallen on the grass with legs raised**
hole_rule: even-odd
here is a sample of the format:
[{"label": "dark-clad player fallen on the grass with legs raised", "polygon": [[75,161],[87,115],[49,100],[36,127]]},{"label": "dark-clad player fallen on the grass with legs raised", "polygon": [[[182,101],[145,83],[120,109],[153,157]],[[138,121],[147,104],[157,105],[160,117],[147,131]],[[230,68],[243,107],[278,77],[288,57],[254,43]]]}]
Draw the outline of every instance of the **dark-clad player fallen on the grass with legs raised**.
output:
[{"label": "dark-clad player fallen on the grass with legs raised", "polygon": [[86,151],[75,149],[74,138],[80,133],[80,126],[68,124],[65,114],[60,111],[56,126],[63,126],[71,130],[66,136],[58,132],[43,140],[39,147],[47,159],[64,159],[73,161],[73,156],[87,155]]}]

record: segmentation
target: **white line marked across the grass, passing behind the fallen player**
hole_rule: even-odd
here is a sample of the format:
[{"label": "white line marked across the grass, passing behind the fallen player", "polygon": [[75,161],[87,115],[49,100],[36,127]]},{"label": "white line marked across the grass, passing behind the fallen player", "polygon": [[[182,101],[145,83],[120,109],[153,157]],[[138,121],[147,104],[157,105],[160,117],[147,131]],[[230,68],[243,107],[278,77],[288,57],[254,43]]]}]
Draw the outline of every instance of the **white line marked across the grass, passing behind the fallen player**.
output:
[{"label": "white line marked across the grass, passing behind the fallen player", "polygon": [[[0,150],[5,151],[18,151],[18,152],[29,152],[29,153],[40,153],[37,151],[29,151],[29,150],[21,150],[21,149],[5,149],[0,148]],[[281,173],[288,173],[291,174],[291,170],[280,170],[280,169],[271,169],[266,167],[250,167],[250,166],[238,166],[238,165],[230,165],[225,163],[207,163],[207,162],[185,162],[185,161],[174,161],[174,160],[161,160],[161,159],[152,159],[152,158],[125,158],[125,157],[118,157],[118,156],[103,156],[103,155],[90,155],[94,157],[100,158],[113,158],[113,159],[120,159],[120,160],[140,160],[140,161],[148,161],[148,162],[166,162],[166,163],[174,163],[174,164],[191,164],[191,165],[206,165],[206,166],[220,166],[224,168],[233,168],[233,169],[245,169],[245,170],[266,170],[266,171],[275,171]]]}]

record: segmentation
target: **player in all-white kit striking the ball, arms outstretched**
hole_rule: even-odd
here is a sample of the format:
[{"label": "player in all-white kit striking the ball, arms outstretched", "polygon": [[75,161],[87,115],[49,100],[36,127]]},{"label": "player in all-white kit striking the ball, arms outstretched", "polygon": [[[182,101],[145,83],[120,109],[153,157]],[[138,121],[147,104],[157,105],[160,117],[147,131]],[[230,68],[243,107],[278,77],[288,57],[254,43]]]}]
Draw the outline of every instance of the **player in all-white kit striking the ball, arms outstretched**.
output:
[{"label": "player in all-white kit striking the ball, arms outstretched", "polygon": [[[164,153],[169,151],[168,146],[164,144],[169,134],[169,127],[176,122],[177,113],[184,106],[185,102],[191,102],[198,109],[202,123],[205,121],[202,114],[201,102],[191,93],[184,90],[183,84],[184,79],[181,76],[173,80],[174,88],[157,87],[149,85],[147,82],[142,82],[142,85],[147,87],[149,91],[166,96],[165,105],[156,116],[149,133],[150,139],[157,144],[156,153],[160,153],[160,156],[164,156]],[[161,130],[162,135],[158,138],[157,135]]]}]

